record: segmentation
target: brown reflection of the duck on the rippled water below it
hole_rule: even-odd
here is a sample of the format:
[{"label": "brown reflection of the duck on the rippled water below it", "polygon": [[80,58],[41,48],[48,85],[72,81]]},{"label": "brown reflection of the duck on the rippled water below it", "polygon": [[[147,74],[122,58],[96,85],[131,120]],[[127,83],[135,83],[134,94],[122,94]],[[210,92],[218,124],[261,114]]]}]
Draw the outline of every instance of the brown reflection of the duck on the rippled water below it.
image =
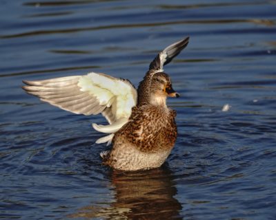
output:
[{"label": "brown reflection of the duck on the rippled water below it", "polygon": [[102,219],[182,219],[177,189],[167,166],[135,173],[112,171],[115,201],[110,207],[87,206],[71,217]]}]

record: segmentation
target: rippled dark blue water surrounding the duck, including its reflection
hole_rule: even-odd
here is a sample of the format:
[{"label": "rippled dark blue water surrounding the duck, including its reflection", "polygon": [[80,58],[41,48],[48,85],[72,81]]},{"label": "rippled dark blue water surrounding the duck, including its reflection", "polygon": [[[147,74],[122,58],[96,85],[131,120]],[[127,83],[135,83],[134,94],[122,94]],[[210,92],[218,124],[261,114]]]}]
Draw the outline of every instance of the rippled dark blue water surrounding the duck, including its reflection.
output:
[{"label": "rippled dark blue water surrounding the duck, including its reflection", "polygon": [[[0,1],[0,219],[275,219],[276,1]],[[101,165],[100,116],[21,80],[87,72],[137,85],[168,44],[179,135],[166,164]],[[230,104],[229,111],[221,111]]]}]

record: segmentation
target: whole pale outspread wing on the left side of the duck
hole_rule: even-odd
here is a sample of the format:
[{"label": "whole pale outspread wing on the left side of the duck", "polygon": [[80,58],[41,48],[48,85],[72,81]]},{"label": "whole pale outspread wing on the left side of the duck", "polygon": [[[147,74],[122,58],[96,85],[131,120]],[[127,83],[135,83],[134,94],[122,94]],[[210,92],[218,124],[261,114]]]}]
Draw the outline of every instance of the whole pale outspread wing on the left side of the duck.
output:
[{"label": "whole pale outspread wing on the left side of the duck", "polygon": [[90,73],[85,76],[67,76],[49,80],[26,81],[22,88],[42,101],[83,115],[102,115],[109,125],[93,123],[97,131],[110,133],[97,143],[110,142],[113,133],[128,122],[132,107],[137,104],[135,87],[124,79],[106,74]]}]

